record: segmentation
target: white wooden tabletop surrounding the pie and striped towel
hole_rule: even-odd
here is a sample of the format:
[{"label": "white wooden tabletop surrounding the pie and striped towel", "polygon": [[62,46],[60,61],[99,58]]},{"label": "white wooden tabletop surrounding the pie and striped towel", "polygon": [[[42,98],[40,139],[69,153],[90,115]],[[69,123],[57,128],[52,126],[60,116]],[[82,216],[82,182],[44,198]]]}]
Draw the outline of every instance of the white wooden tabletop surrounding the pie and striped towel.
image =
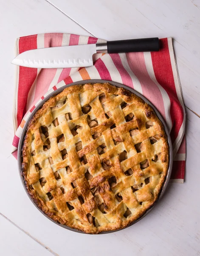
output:
[{"label": "white wooden tabletop surrounding the pie and striped towel", "polygon": [[[0,255],[200,255],[200,0],[0,0]],[[186,105],[184,184],[142,221],[107,235],[70,232],[28,199],[11,156],[15,39],[44,32],[107,40],[174,38]]]}]

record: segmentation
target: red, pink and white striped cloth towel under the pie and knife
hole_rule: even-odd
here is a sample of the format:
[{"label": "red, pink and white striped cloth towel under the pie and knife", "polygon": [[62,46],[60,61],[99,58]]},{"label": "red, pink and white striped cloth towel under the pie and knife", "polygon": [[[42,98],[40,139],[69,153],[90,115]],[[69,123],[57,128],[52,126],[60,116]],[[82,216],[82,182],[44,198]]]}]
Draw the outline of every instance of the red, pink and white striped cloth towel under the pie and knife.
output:
[{"label": "red, pink and white striped cloth towel under the pie and knife", "polygon": [[[16,55],[37,48],[93,44],[104,40],[62,33],[30,35],[17,39]],[[36,69],[16,67],[14,131],[12,153],[17,147],[25,121],[35,106],[52,91],[65,84],[86,79],[105,79],[125,84],[143,94],[160,111],[173,143],[171,179],[183,183],[186,141],[185,109],[177,73],[172,38],[160,40],[159,52],[130,52],[94,56],[94,66],[86,68]]]}]

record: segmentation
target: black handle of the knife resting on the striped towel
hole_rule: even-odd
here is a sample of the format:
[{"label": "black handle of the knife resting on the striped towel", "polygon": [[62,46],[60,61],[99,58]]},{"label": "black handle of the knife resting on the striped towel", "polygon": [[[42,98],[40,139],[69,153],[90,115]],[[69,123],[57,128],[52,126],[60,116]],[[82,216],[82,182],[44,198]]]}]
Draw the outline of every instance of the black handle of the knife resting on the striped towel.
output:
[{"label": "black handle of the knife resting on the striped towel", "polygon": [[107,41],[108,53],[159,51],[159,38]]}]

